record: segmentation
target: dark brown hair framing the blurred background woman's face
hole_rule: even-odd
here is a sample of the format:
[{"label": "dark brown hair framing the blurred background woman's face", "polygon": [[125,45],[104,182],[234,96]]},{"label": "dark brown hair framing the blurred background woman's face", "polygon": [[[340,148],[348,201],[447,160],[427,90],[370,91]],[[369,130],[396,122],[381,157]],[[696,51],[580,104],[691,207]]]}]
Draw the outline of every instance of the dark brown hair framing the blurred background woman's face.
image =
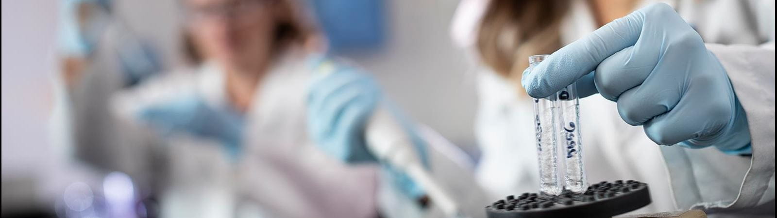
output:
[{"label": "dark brown hair framing the blurred background woman's face", "polygon": [[[308,40],[316,36],[317,31],[310,23],[305,22],[305,15],[299,0],[275,0],[273,1],[275,10],[282,16],[274,26],[273,52],[283,50],[290,45],[305,46]],[[192,36],[183,30],[183,52],[187,61],[193,64],[200,64],[203,57],[197,46],[194,44]]]}]

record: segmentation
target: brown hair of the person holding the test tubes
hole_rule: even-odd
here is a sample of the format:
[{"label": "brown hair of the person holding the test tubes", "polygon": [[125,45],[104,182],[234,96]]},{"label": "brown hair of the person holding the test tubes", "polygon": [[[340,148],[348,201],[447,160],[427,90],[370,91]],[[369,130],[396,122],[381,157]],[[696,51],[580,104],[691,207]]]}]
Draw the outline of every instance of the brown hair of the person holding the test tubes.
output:
[{"label": "brown hair of the person holding the test tubes", "polygon": [[[478,31],[477,50],[493,71],[521,81],[528,57],[561,47],[563,0],[491,0]],[[519,85],[520,87],[520,85]]]}]

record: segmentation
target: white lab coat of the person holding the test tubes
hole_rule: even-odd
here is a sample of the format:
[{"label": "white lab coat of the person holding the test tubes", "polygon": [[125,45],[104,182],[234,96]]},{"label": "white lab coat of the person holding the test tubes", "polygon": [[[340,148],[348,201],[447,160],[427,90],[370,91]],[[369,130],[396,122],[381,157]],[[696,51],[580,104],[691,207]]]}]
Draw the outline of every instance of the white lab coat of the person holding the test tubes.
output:
[{"label": "white lab coat of the person holding the test tubes", "polygon": [[[563,43],[571,43],[596,28],[587,2],[570,2],[572,7],[562,24]],[[651,2],[655,1],[640,5]],[[591,96],[580,100],[588,181],[636,179],[648,183],[653,203],[634,213],[684,209],[757,213],[757,209],[739,209],[774,200],[774,2],[665,2],[694,26],[726,67],[747,112],[753,155],[726,155],[714,147],[694,150],[657,146],[641,126],[629,126],[620,119],[614,102]],[[464,1],[454,18],[451,34],[470,52],[487,4],[487,0]],[[536,192],[531,101],[528,96],[519,98],[514,83],[490,71],[479,73],[478,81],[476,136],[483,151],[478,181],[495,199]]]}]

